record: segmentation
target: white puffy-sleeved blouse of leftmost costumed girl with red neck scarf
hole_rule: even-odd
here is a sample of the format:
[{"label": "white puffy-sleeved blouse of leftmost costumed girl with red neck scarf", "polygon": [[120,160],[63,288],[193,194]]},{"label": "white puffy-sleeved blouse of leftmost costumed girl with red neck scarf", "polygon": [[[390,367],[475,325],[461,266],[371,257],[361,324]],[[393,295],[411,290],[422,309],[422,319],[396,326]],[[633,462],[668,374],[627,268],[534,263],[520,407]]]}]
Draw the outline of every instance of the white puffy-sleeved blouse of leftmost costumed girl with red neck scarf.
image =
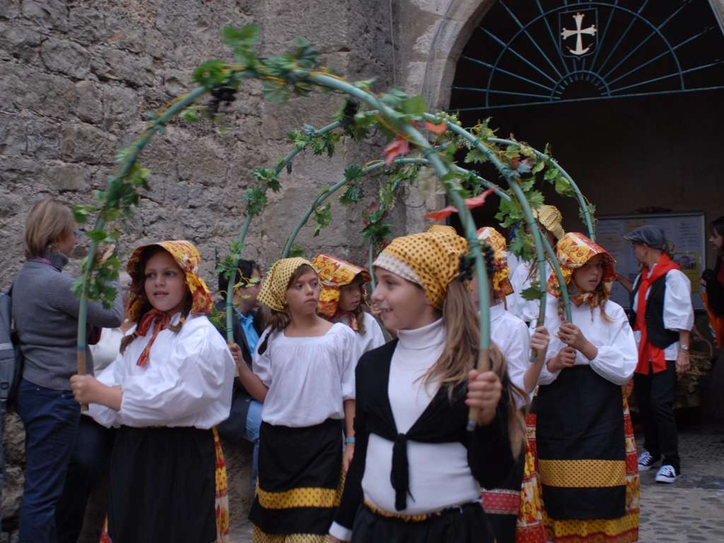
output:
[{"label": "white puffy-sleeved blouse of leftmost costumed girl with red neck scarf", "polygon": [[[180,313],[172,318],[177,324]],[[134,329],[128,333],[131,334]],[[179,332],[161,330],[148,363],[136,362],[153,328],[127,346],[98,381],[123,390],[121,409],[90,404],[89,413],[104,426],[194,426],[209,429],[231,408],[234,360],[206,316],[189,316]]]}]

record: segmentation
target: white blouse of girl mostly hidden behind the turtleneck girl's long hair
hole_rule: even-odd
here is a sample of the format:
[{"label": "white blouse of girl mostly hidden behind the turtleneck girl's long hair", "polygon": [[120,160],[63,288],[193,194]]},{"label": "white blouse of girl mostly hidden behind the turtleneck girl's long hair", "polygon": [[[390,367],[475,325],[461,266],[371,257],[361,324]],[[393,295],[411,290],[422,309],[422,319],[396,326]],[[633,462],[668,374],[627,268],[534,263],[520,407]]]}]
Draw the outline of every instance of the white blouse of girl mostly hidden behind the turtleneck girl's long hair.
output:
[{"label": "white blouse of girl mostly hidden behind the turtleneck girl's long hair", "polygon": [[[531,335],[521,319],[506,311],[502,303],[490,308],[490,339],[500,348],[508,363],[508,378],[516,387],[525,391],[523,377],[531,360]],[[528,395],[530,400],[530,395]],[[521,407],[517,395],[515,403]]]}]

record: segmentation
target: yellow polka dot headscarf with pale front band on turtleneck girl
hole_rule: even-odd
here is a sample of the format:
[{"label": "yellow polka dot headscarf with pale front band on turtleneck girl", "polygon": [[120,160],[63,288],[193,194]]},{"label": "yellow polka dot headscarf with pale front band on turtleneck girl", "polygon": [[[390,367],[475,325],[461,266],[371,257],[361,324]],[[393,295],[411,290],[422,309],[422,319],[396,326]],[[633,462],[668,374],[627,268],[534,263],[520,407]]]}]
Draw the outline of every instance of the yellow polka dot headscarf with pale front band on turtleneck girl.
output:
[{"label": "yellow polka dot headscarf with pale front band on turtleneck girl", "polygon": [[427,299],[442,309],[447,285],[460,273],[460,255],[468,242],[455,229],[435,224],[427,232],[396,237],[379,253],[374,266],[420,285]]}]

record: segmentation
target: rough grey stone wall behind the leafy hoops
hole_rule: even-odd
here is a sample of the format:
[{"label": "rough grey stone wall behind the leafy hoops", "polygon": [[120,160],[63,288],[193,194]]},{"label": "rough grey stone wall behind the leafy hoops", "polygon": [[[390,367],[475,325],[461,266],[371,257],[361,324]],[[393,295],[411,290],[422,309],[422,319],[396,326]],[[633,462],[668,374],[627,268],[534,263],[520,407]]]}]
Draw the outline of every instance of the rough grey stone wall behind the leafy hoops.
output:
[{"label": "rough grey stone wall behind the leafy hoops", "polygon": [[[90,203],[113,171],[116,151],[143,130],[146,114],[193,88],[190,75],[201,61],[229,58],[222,25],[260,23],[264,54],[306,37],[325,64],[353,79],[377,77],[382,89],[391,74],[388,13],[382,1],[337,2],[334,9],[312,0],[2,2],[0,287],[22,265],[22,226],[33,202],[55,195],[69,204]],[[186,237],[198,244],[203,271],[215,283],[214,251],[223,255],[237,235],[251,169],[287,153],[288,130],[330,122],[340,101],[316,93],[277,106],[264,103],[260,89],[256,82],[244,85],[223,128],[174,122],[146,148],[151,190],[125,228],[122,251]],[[245,256],[271,264],[292,219],[320,185],[339,180],[350,161],[382,155],[379,145],[342,150],[333,159],[299,157],[282,192],[253,224]],[[310,254],[324,249],[362,258],[361,207],[337,210],[334,227],[321,237],[304,230],[300,244]]]}]

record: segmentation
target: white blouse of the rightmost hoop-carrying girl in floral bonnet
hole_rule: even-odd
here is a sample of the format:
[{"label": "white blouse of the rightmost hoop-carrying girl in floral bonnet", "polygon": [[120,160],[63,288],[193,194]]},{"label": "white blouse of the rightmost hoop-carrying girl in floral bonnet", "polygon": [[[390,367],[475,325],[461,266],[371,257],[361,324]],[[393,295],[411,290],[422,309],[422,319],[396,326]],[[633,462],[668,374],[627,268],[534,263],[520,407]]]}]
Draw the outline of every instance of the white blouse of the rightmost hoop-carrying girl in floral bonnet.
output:
[{"label": "white blouse of the rightmost hoop-carrying girl in floral bonnet", "polygon": [[[639,353],[636,349],[636,340],[633,339],[633,330],[628,324],[628,318],[623,308],[611,300],[605,306],[605,312],[612,322],[605,321],[599,308],[587,304],[576,306],[571,304],[571,317],[573,324],[581,329],[587,340],[596,345],[598,354],[590,360],[580,351],[576,351],[576,366],[589,365],[604,379],[615,384],[626,384],[636,369]],[[560,329],[558,316],[558,299],[552,295],[546,298],[545,326],[550,333],[550,343],[546,352],[546,361],[566,347],[557,334]],[[539,384],[550,384],[555,381],[560,371],[548,371],[544,364],[539,378]]]}]

